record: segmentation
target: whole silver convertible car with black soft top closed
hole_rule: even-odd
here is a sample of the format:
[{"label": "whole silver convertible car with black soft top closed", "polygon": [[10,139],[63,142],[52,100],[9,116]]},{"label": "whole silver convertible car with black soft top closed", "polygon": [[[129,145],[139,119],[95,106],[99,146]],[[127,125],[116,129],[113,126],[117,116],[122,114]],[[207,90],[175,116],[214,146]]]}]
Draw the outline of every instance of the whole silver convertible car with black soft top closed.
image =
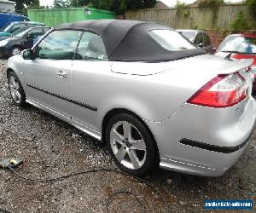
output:
[{"label": "whole silver convertible car with black soft top closed", "polygon": [[126,172],[220,176],[253,132],[251,64],[206,55],[168,26],[88,20],[53,28],[7,76],[15,105],[106,143]]}]

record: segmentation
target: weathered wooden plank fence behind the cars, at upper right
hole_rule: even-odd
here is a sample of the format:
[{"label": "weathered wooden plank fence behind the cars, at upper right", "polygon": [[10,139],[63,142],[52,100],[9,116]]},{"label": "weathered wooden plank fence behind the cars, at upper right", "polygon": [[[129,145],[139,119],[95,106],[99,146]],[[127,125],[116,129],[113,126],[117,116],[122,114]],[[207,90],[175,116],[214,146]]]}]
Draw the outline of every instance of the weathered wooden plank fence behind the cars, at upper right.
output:
[{"label": "weathered wooden plank fence behind the cars, at upper right", "polygon": [[185,9],[140,9],[126,11],[125,19],[154,21],[173,28],[230,29],[230,25],[243,12],[250,29],[256,28],[256,19],[244,3],[224,4],[217,11],[212,7],[191,6]]}]

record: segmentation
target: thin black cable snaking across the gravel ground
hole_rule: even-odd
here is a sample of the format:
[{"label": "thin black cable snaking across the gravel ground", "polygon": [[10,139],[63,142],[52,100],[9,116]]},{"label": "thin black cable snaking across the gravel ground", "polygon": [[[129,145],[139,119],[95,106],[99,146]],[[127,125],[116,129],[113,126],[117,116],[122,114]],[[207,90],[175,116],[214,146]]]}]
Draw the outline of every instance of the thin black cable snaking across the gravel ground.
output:
[{"label": "thin black cable snaking across the gravel ground", "polygon": [[[78,172],[75,172],[75,173],[70,173],[70,174],[67,174],[67,175],[64,175],[64,176],[58,176],[58,177],[46,178],[46,179],[39,179],[39,178],[29,178],[29,177],[26,177],[26,176],[21,176],[11,166],[8,166],[7,168],[9,170],[11,170],[12,172],[14,172],[16,176],[19,176],[20,178],[22,178],[22,179],[24,179],[26,181],[61,181],[63,179],[66,179],[66,178],[69,178],[69,177],[72,177],[72,176],[79,176],[79,175],[83,175],[83,174],[97,173],[97,172],[113,172],[113,173],[121,174],[123,176],[131,176],[130,174],[128,174],[128,173],[126,173],[124,171],[113,170],[111,168],[98,168],[98,169],[81,170],[81,171],[78,171]],[[159,189],[154,187],[148,181],[143,180],[142,178],[139,178],[137,176],[132,176],[132,177],[137,179],[137,181],[141,181],[141,182],[145,183],[148,187],[151,187],[151,189],[153,189],[156,193],[158,193],[159,196],[160,196],[160,199],[162,199],[163,204],[165,205],[165,212],[169,212],[169,206],[167,204],[167,201],[162,196],[162,194],[160,193]],[[145,206],[143,205],[143,203],[141,202],[141,200],[137,197],[137,195],[135,193],[131,193],[128,190],[122,190],[122,191],[116,191],[116,192],[112,193],[108,197],[108,200],[106,202],[106,212],[107,213],[108,213],[108,206],[111,203],[111,201],[113,200],[113,197],[117,196],[119,194],[122,194],[122,193],[131,194],[135,199],[137,199],[138,204],[141,206],[142,212],[145,212]],[[6,212],[9,213],[9,211],[6,211]]]}]

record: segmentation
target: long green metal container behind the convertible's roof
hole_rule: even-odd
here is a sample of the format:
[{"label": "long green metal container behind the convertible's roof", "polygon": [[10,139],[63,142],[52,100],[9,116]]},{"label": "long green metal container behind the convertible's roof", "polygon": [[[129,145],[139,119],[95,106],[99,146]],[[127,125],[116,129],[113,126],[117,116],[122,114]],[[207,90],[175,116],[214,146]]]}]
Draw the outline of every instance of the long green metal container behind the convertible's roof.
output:
[{"label": "long green metal container behind the convertible's roof", "polygon": [[90,8],[28,9],[27,14],[30,20],[42,22],[45,26],[58,26],[78,20],[115,18],[112,12]]}]

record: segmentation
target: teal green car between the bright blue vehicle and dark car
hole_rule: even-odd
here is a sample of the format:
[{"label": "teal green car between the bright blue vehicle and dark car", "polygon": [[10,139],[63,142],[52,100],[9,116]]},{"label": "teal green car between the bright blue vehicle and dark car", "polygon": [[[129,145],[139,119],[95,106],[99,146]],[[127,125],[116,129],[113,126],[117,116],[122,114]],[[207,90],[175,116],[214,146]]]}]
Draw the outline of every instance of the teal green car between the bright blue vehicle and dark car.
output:
[{"label": "teal green car between the bright blue vehicle and dark car", "polygon": [[26,26],[44,26],[43,23],[38,22],[32,22],[32,21],[19,21],[19,22],[13,22],[9,26],[7,26],[3,32],[0,32],[0,37],[9,37],[11,34],[17,30],[19,30],[22,27]]}]

